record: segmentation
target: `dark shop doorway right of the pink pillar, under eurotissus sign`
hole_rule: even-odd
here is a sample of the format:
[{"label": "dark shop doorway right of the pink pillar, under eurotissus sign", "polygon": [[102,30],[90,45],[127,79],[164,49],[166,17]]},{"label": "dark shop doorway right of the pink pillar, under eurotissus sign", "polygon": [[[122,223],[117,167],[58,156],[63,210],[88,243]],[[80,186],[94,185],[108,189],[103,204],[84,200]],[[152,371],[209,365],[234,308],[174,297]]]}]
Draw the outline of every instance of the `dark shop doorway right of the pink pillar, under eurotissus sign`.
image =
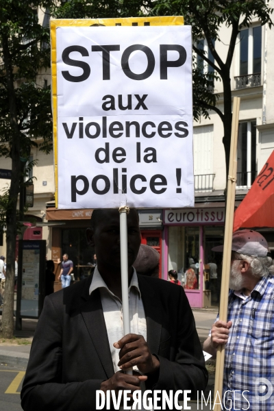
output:
[{"label": "dark shop doorway right of the pink pillar, under eurotissus sign", "polygon": [[211,292],[211,305],[217,307],[220,304],[223,253],[215,253],[212,248],[223,244],[224,229],[224,227],[204,227],[203,263],[209,266],[209,278],[205,282],[205,289]]}]

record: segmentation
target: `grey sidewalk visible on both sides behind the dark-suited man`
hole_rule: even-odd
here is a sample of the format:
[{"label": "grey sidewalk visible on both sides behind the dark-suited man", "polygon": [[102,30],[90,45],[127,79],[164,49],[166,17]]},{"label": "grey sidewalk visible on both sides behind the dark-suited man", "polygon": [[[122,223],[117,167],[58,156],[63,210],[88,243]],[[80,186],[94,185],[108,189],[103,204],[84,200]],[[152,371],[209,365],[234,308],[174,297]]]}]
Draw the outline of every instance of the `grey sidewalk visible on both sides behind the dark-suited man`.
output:
[{"label": "grey sidewalk visible on both sides behind the dark-suited man", "polygon": [[[206,340],[208,332],[216,319],[218,310],[214,308],[209,310],[193,308],[192,311],[199,338],[201,343],[203,343],[203,341]],[[38,320],[22,319],[22,330],[15,331],[14,336],[17,338],[27,338],[27,340],[32,340],[37,321]],[[0,364],[7,364],[9,366],[27,366],[30,348],[31,344],[15,345],[1,343],[0,340]]]}]

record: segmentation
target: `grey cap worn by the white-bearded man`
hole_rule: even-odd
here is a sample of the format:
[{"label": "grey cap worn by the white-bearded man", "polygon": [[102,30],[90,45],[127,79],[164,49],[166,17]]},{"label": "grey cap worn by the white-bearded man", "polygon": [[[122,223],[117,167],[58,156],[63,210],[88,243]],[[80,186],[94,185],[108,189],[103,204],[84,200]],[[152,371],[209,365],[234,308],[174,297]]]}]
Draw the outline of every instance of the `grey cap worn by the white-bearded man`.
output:
[{"label": "grey cap worn by the white-bearded man", "polygon": [[[212,251],[223,251],[223,245],[213,247]],[[232,251],[253,257],[266,257],[269,245],[262,234],[253,229],[240,229],[232,236]]]}]

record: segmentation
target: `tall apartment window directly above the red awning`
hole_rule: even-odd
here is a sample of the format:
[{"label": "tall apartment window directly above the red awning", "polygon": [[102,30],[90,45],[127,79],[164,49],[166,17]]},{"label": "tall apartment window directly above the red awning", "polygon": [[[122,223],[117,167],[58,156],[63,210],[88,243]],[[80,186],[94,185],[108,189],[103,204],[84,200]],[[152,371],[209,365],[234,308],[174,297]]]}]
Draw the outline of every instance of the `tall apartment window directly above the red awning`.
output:
[{"label": "tall apartment window directly above the red awning", "polygon": [[250,188],[256,178],[256,121],[242,121],[238,129],[237,188]]}]

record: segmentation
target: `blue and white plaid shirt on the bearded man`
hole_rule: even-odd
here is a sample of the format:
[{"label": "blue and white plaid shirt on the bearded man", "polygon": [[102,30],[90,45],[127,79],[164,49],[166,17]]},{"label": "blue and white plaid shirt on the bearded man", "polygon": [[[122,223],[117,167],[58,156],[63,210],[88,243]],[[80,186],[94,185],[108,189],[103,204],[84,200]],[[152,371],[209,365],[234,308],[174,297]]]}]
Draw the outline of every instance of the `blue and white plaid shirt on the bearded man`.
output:
[{"label": "blue and white plaid shirt on the bearded man", "polygon": [[[225,406],[235,410],[274,410],[274,393],[266,398],[267,393],[271,394],[271,384],[274,389],[273,275],[262,277],[247,298],[240,292],[229,292],[229,320],[232,321],[232,328],[225,348],[223,393],[226,390],[239,392],[227,393]],[[258,378],[261,380],[256,382]],[[267,388],[262,388],[264,392],[260,393],[259,386]],[[243,393],[245,390],[249,393]]]}]

